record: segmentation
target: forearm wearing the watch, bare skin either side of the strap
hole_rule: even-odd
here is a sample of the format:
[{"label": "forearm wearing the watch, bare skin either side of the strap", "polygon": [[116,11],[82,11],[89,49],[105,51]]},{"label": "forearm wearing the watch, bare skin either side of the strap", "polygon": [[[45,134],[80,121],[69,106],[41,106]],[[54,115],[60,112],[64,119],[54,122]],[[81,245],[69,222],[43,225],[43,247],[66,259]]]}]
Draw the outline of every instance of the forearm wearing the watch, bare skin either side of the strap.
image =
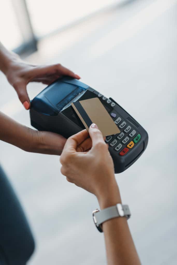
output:
[{"label": "forearm wearing the watch, bare skin either side of the strap", "polygon": [[[111,187],[112,192],[98,198],[100,209],[116,205],[121,202],[117,184]],[[107,263],[109,265],[138,265],[141,264],[135,245],[129,231],[126,217],[110,219],[102,224],[105,237]]]}]

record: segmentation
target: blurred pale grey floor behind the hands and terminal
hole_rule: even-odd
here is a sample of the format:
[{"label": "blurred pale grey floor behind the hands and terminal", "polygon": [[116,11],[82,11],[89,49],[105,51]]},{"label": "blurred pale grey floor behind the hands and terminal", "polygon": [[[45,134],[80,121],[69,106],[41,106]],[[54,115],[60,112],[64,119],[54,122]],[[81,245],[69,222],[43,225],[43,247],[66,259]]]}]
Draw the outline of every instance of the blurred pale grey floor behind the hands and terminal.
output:
[{"label": "blurred pale grey floor behind the hands and terminal", "polygon": [[[177,1],[129,1],[45,40],[33,63],[57,63],[113,97],[149,134],[142,157],[116,175],[142,264],[177,263]],[[30,126],[0,75],[0,111]],[[35,96],[42,85],[30,84]],[[37,247],[30,265],[106,264],[96,198],[68,183],[59,157],[25,153],[0,142],[0,162],[27,213]]]}]

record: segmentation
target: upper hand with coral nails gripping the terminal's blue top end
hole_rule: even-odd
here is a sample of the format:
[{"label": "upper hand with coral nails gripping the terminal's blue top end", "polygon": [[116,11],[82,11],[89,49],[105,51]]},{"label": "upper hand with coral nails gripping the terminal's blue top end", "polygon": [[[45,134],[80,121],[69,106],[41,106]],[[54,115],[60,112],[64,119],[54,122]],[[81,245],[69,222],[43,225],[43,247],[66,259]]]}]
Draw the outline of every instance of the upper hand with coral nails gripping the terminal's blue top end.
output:
[{"label": "upper hand with coral nails gripping the terminal's blue top end", "polygon": [[71,76],[80,77],[61,64],[32,65],[25,63],[20,57],[8,51],[0,42],[0,70],[6,75],[8,82],[14,87],[19,100],[25,109],[30,108],[30,100],[27,93],[29,82],[41,82],[49,85],[57,78]]}]

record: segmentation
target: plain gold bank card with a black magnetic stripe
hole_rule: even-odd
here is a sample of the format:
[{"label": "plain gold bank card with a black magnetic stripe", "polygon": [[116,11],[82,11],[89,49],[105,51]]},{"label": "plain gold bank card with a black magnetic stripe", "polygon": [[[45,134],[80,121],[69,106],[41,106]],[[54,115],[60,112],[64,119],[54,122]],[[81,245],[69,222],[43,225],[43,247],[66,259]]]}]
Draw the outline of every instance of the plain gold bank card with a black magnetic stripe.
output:
[{"label": "plain gold bank card with a black magnetic stripe", "polygon": [[99,98],[76,101],[71,103],[71,105],[87,130],[89,130],[92,123],[95,123],[102,132],[103,137],[120,133],[119,128]]}]

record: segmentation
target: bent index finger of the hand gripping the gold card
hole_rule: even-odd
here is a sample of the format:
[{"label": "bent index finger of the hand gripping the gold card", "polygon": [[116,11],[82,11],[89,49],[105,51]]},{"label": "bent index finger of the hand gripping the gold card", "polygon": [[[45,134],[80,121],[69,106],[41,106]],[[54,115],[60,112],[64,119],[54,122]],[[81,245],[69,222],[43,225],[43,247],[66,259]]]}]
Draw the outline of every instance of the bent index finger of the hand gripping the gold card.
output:
[{"label": "bent index finger of the hand gripping the gold card", "polygon": [[72,135],[70,138],[67,139],[66,144],[64,145],[63,152],[68,150],[76,151],[76,148],[79,144],[81,144],[85,139],[89,136],[88,131],[85,129]]}]

